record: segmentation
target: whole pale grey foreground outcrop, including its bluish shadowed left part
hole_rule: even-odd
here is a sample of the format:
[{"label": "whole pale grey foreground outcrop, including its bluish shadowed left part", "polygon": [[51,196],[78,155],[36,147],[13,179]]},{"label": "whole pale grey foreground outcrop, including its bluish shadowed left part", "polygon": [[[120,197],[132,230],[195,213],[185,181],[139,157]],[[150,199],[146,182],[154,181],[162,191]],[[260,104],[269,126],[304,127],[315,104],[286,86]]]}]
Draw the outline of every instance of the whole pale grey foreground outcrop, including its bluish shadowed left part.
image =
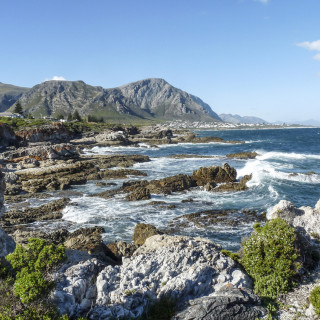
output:
[{"label": "whole pale grey foreground outcrop, including its bluish shadowed left part", "polygon": [[[155,235],[121,266],[101,269],[91,259],[66,264],[54,274],[57,286],[51,299],[61,313],[97,320],[136,318],[150,300],[168,297],[177,302],[176,319],[181,320],[192,319],[196,310],[199,314],[207,310],[205,319],[232,315],[254,319],[266,314],[251,291],[249,277],[205,239]],[[226,317],[215,318],[217,311]]]}]

